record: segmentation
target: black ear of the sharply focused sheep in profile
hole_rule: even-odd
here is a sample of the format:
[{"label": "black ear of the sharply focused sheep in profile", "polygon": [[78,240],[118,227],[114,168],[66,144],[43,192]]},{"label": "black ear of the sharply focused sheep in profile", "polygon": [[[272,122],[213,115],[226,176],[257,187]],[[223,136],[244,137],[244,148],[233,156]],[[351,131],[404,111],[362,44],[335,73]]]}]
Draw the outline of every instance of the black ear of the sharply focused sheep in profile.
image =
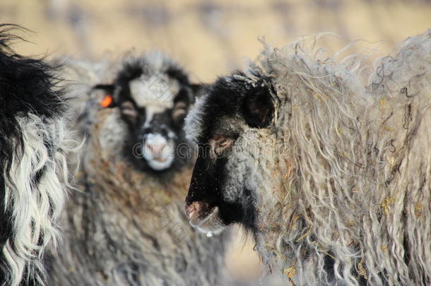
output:
[{"label": "black ear of the sharply focused sheep in profile", "polygon": [[264,128],[271,123],[274,105],[267,85],[258,85],[246,91],[243,113],[249,126]]}]

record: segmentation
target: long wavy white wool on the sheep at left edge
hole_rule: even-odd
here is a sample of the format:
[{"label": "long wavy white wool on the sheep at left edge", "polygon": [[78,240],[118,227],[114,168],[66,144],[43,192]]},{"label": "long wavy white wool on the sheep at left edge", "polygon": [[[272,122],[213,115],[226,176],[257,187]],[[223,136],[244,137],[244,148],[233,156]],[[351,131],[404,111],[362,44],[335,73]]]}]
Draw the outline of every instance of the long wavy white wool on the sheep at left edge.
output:
[{"label": "long wavy white wool on the sheep at left edge", "polygon": [[[6,210],[11,210],[13,222],[13,239],[8,239],[2,249],[10,271],[4,283],[13,286],[27,281],[45,285],[42,258],[47,249],[57,246],[60,237],[57,222],[64,208],[66,186],[69,186],[66,154],[74,152],[76,142],[67,138],[64,120],[44,122],[28,114],[18,122],[23,136],[22,149],[16,149],[11,172],[3,174],[6,178],[4,205]],[[54,157],[45,141],[53,144]],[[43,175],[36,182],[38,174]]]}]

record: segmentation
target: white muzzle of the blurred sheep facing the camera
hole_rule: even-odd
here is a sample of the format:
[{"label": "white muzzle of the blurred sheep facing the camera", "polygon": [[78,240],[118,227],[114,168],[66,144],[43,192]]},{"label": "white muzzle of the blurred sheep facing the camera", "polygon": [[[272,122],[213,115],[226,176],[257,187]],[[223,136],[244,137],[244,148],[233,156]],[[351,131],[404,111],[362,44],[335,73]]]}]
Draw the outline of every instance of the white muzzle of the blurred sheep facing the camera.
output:
[{"label": "white muzzle of the blurred sheep facing the camera", "polygon": [[148,166],[156,171],[167,169],[172,165],[175,157],[174,143],[157,133],[146,135],[142,153]]}]

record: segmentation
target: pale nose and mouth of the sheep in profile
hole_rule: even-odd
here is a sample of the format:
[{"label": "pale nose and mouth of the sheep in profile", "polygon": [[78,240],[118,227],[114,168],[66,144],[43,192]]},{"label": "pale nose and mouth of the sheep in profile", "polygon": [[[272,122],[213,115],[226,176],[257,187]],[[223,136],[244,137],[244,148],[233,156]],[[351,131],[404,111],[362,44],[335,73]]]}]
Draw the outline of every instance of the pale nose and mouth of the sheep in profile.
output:
[{"label": "pale nose and mouth of the sheep in profile", "polygon": [[201,201],[190,203],[186,206],[186,215],[190,225],[206,233],[208,237],[211,234],[219,234],[226,227],[220,218],[218,207],[208,203]]}]

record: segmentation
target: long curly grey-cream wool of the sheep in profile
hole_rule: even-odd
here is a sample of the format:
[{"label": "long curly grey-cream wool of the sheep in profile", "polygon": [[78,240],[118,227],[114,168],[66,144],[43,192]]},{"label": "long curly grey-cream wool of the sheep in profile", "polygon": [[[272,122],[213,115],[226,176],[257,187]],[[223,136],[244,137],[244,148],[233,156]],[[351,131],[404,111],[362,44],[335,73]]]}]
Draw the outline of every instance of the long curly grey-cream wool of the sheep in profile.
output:
[{"label": "long curly grey-cream wool of the sheep in profile", "polygon": [[266,265],[295,285],[430,285],[431,31],[381,59],[365,88],[360,60],[305,42],[263,55],[248,80],[270,78],[275,128],[237,145],[256,168]]}]

